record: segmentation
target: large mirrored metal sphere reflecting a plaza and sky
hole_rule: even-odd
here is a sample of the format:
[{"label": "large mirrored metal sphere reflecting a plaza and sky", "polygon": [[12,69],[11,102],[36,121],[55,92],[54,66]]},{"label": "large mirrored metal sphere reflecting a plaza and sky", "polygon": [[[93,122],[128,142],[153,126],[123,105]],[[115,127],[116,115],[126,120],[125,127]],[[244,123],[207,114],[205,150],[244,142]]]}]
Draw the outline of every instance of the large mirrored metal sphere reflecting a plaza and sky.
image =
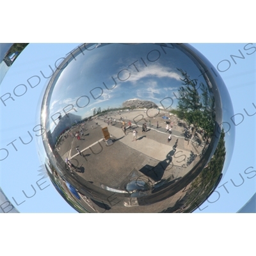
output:
[{"label": "large mirrored metal sphere reflecting a plaza and sky", "polygon": [[232,103],[188,44],[83,44],[40,107],[40,157],[78,212],[192,212],[227,170]]}]

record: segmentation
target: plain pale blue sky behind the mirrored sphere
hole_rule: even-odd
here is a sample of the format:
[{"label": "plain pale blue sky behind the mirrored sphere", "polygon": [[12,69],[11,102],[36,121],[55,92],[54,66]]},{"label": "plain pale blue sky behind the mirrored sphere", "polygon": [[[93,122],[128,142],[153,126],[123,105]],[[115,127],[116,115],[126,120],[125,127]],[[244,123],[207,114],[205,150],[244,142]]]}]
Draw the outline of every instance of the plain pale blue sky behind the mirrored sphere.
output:
[{"label": "plain pale blue sky behind the mirrored sphere", "polygon": [[[40,161],[36,152],[35,132],[33,128],[36,125],[36,115],[38,111],[38,100],[44,89],[47,79],[45,79],[40,71],[45,76],[51,74],[49,65],[54,68],[54,63],[60,58],[65,58],[78,44],[29,44],[26,49],[15,60],[10,70],[7,72],[0,87],[0,97],[5,93],[11,93],[12,99],[6,100],[6,106],[0,101],[1,111],[1,132],[0,141],[1,148],[8,149],[9,156],[0,161],[0,186],[3,189],[12,204],[17,207],[20,212],[76,212],[70,207],[63,198],[58,194],[51,184],[49,178],[40,180],[42,184],[40,190],[36,185],[42,176],[38,176],[40,172]],[[241,122],[241,116],[236,116],[236,141],[232,161],[228,168],[228,172],[221,180],[219,188],[209,198],[209,202],[201,205],[200,209],[195,212],[237,212],[255,193],[255,179],[253,177],[256,172],[246,174],[256,170],[255,164],[255,116],[248,116],[248,113],[256,112],[255,100],[255,56],[256,44],[191,44],[193,47],[202,52],[204,56],[211,61],[214,67],[225,70],[220,72],[221,77],[230,93],[230,97],[234,106],[234,113],[244,116]],[[252,49],[249,49],[249,48]],[[255,52],[254,52],[255,51]],[[242,56],[243,58],[235,58],[232,60],[230,55]],[[228,61],[223,61],[228,60]],[[61,60],[60,60],[61,61]],[[56,65],[60,63],[57,61]],[[222,61],[222,62],[221,62]],[[28,84],[28,79],[33,76],[40,77],[40,83],[31,88]],[[38,83],[38,77],[30,79],[31,84]],[[19,84],[25,84],[28,88],[27,92],[20,97],[13,94],[13,90]],[[18,86],[15,93],[21,94],[24,92],[24,86]],[[5,95],[3,99],[6,99]],[[230,116],[231,117],[231,116]],[[230,124],[234,125],[230,120]],[[33,141],[28,145],[23,145],[19,136],[24,141],[29,141],[28,131],[33,135]],[[36,133],[38,134],[38,132]],[[12,141],[18,151],[12,145],[6,146]],[[6,153],[1,150],[0,159],[3,159]],[[240,176],[241,174],[241,176]],[[249,179],[251,178],[252,179]],[[244,179],[244,182],[243,182]],[[234,184],[243,184],[234,186]],[[227,182],[227,183],[226,183]],[[225,184],[226,183],[226,184]],[[227,191],[222,187],[225,184]],[[23,191],[29,196],[26,198]],[[18,204],[17,205],[14,198]],[[216,201],[216,202],[214,202]],[[214,202],[214,203],[211,203]]]}]

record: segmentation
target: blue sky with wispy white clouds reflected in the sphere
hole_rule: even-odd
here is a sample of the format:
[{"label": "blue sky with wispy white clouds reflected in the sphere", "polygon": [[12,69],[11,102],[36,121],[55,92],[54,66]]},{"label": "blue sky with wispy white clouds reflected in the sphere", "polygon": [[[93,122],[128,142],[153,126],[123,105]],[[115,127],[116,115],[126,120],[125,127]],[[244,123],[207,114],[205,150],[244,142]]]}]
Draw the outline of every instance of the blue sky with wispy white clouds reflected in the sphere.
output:
[{"label": "blue sky with wispy white clouds reflected in the sphere", "polygon": [[[81,47],[83,52],[71,56],[68,65],[67,62],[63,65],[65,68],[60,67],[61,72],[53,83],[50,116],[56,113],[65,115],[63,108],[72,104],[77,111],[72,110],[72,113],[85,118],[93,115],[94,108],[121,108],[122,103],[129,99],[150,100],[161,106],[161,100],[171,97],[172,108],[175,108],[176,97],[179,97],[177,89],[182,84],[177,70],[180,67],[191,78],[198,79],[198,84],[206,84],[193,61],[172,45],[96,46],[91,45],[90,51]],[[201,93],[200,88],[198,91]],[[79,106],[87,106],[77,108],[76,102]]]}]

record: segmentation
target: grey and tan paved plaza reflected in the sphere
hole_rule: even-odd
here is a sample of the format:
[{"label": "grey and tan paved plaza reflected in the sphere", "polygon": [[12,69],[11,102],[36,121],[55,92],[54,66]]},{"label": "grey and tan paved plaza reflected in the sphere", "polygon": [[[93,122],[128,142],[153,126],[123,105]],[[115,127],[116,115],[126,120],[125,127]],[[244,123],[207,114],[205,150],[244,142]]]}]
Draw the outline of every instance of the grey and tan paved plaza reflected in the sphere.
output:
[{"label": "grey and tan paved plaza reflected in the sphere", "polygon": [[[174,126],[172,140],[168,143],[167,138],[170,134],[165,129],[166,124],[162,118],[164,113],[159,114],[156,118],[148,118],[143,110],[129,113],[125,111],[122,114],[124,115],[108,114],[107,118],[99,116],[97,119],[80,124],[68,131],[70,134],[70,132],[83,130],[81,140],[69,135],[67,139],[63,139],[60,145],[59,153],[62,159],[65,160],[67,157],[76,166],[76,168],[70,168],[74,175],[79,175],[96,186],[125,189],[125,181],[129,180],[129,175],[131,176],[132,172],[136,172],[138,176],[147,177],[150,184],[156,184],[163,179],[179,180],[191,170],[191,166],[193,166],[193,161],[189,163],[191,152],[193,152],[193,156],[198,157],[204,145],[198,146],[184,140],[182,127],[175,124],[177,121],[174,116],[170,119],[174,120]],[[145,119],[137,118],[140,120],[137,122],[134,117],[138,115],[143,115]],[[124,116],[126,127],[129,120],[132,123],[132,126],[126,130],[126,136],[122,131],[120,116]],[[147,127],[147,132],[142,132],[141,125],[145,120],[147,125],[150,120],[151,126]],[[114,142],[112,145],[106,145],[102,134],[103,127],[108,127],[111,140]],[[132,131],[134,129],[138,131],[137,141],[133,141]],[[76,148],[79,148],[82,156]]]}]

